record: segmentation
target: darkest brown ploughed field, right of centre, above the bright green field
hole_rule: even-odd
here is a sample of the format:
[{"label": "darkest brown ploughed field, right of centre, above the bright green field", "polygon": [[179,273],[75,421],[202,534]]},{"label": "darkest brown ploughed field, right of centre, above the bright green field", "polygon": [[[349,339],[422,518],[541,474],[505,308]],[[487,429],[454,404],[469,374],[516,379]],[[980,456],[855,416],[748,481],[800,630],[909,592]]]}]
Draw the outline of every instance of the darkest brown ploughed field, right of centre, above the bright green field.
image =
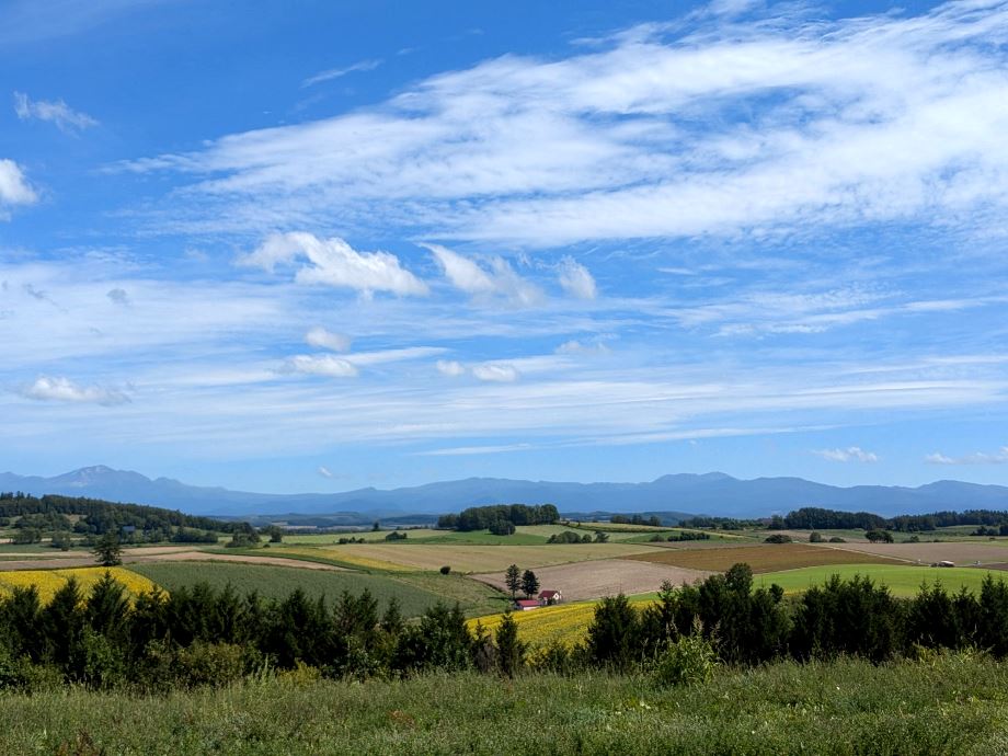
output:
[{"label": "darkest brown ploughed field, right of centre, above the bright green field", "polygon": [[893,559],[882,555],[804,543],[764,543],[721,549],[655,549],[651,553],[627,559],[713,572],[724,572],[737,562],[745,562],[753,568],[753,572],[794,570],[820,564],[894,563]]}]

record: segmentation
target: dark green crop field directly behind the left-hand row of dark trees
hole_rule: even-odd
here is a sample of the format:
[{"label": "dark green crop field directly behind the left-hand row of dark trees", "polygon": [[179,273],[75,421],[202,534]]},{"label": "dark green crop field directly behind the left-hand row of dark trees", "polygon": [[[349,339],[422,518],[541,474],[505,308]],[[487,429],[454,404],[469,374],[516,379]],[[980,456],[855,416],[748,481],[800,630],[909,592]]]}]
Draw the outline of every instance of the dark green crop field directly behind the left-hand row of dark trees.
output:
[{"label": "dark green crop field directly behind the left-hand row of dark trees", "polygon": [[335,598],[343,591],[358,594],[367,588],[382,607],[392,596],[398,598],[406,617],[423,614],[427,607],[442,599],[442,596],[432,589],[392,576],[362,572],[299,570],[272,564],[228,562],[151,562],[135,564],[131,569],[169,592],[201,582],[209,583],[215,588],[224,588],[230,583],[239,593],[259,591],[261,595],[270,598],[284,598],[295,588],[301,588],[313,597],[324,594],[329,598]]}]

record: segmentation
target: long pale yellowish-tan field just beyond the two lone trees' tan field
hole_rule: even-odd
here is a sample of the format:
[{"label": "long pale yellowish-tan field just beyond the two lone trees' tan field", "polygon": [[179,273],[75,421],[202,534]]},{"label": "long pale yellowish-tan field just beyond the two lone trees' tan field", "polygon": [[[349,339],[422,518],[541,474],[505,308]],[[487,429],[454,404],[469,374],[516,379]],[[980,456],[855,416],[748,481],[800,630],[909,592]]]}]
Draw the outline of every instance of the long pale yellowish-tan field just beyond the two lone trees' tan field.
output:
[{"label": "long pale yellowish-tan field just beyond the two lone trees' tan field", "polygon": [[416,546],[356,543],[319,549],[320,555],[353,561],[363,558],[378,563],[391,563],[399,569],[437,570],[444,564],[454,572],[496,572],[508,564],[523,569],[550,564],[583,562],[595,559],[623,558],[649,553],[655,549],[645,545],[623,543],[558,543],[549,546],[450,546],[417,543]]}]

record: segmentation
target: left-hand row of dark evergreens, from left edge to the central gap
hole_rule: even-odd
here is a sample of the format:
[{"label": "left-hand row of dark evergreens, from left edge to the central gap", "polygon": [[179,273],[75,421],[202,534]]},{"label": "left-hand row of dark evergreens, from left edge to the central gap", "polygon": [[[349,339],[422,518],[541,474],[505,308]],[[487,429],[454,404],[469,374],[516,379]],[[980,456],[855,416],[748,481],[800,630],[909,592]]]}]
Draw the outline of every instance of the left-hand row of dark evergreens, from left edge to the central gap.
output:
[{"label": "left-hand row of dark evergreens, from left edge to the central gap", "polygon": [[[502,625],[505,673],[524,645]],[[512,632],[512,637],[507,633]],[[207,584],[141,594],[133,605],[108,573],[89,594],[71,580],[43,606],[37,591],[0,599],[0,688],[59,675],[91,687],[145,689],[226,684],[262,669],[312,667],[329,677],[497,668],[496,645],[472,633],[459,607],[437,604],[405,622],[365,589],[332,604],[300,589],[279,600]]]}]

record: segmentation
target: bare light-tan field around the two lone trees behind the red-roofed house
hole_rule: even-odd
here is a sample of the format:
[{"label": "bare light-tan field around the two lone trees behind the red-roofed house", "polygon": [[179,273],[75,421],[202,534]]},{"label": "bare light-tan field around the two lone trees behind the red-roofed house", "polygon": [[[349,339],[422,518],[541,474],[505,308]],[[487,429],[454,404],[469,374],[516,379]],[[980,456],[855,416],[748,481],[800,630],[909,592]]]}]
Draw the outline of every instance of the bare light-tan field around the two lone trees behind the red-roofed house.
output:
[{"label": "bare light-tan field around the two lone trees behind the red-roofed house", "polygon": [[[619,593],[650,593],[657,591],[666,580],[680,585],[692,583],[709,574],[711,573],[626,559],[605,559],[536,569],[539,585],[543,589],[559,589],[565,602],[615,596]],[[507,591],[503,572],[472,575],[472,579]]]}]

